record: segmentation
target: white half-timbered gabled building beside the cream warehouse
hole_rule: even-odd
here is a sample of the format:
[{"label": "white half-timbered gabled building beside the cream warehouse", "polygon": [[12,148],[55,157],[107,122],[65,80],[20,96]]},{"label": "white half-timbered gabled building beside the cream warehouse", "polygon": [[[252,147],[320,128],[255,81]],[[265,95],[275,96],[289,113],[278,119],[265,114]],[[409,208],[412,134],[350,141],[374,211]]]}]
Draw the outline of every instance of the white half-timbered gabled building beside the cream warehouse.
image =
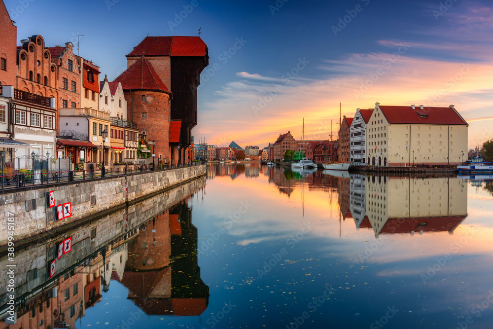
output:
[{"label": "white half-timbered gabled building beside the cream warehouse", "polygon": [[353,163],[366,164],[366,125],[372,111],[373,109],[357,109],[354,114],[350,127],[351,162]]}]

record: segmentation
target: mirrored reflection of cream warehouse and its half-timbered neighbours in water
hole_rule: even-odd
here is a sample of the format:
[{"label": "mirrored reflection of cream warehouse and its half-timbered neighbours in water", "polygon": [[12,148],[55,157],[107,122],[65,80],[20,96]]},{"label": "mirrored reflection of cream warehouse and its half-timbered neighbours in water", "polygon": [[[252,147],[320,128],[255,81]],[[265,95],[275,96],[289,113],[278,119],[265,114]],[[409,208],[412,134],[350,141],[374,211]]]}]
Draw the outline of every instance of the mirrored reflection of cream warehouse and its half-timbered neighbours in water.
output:
[{"label": "mirrored reflection of cream warehouse and its half-timbered neighbours in water", "polygon": [[[349,195],[340,190],[339,205],[356,228],[375,236],[448,231],[467,217],[467,183],[458,178],[403,178],[351,175]],[[349,207],[347,198],[349,197]],[[349,208],[349,209],[348,209]]]}]

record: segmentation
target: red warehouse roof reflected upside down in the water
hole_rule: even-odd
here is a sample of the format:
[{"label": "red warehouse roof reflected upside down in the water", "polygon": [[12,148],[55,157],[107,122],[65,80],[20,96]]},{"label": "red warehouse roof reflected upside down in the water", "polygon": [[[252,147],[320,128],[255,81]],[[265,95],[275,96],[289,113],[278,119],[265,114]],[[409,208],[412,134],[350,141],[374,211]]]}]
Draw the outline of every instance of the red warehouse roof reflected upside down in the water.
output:
[{"label": "red warehouse roof reflected upside down in the water", "polygon": [[[389,218],[380,231],[381,234],[453,231],[466,216]],[[360,226],[361,227],[361,226]]]}]

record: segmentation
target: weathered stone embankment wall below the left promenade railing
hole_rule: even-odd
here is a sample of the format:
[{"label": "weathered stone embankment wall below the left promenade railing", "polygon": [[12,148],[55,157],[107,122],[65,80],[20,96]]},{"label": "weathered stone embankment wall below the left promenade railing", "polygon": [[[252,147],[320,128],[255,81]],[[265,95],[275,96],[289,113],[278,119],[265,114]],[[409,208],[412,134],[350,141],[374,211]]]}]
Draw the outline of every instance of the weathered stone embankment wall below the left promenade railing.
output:
[{"label": "weathered stone embankment wall below the left promenade railing", "polygon": [[[137,200],[204,175],[206,165],[198,165],[132,174],[127,177],[0,191],[0,246],[4,246],[8,241],[8,218],[13,218],[14,238],[18,241],[73,224],[77,220],[100,214],[127,201]],[[54,191],[55,196],[55,207],[52,208],[46,207],[46,193],[49,191]],[[56,220],[56,206],[69,202],[72,215],[60,221]]]}]

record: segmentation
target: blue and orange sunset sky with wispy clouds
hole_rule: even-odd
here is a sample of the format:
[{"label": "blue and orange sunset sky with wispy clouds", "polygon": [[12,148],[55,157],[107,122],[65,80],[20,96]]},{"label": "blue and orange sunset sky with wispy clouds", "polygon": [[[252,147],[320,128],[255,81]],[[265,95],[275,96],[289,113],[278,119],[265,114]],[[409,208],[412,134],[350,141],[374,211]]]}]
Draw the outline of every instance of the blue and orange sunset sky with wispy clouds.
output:
[{"label": "blue and orange sunset sky with wispy clouds", "polygon": [[[455,105],[469,148],[493,138],[489,0],[4,0],[17,39],[71,41],[113,80],[149,36],[198,36],[195,143],[267,146],[290,131],[337,139],[339,110]],[[136,5],[138,3],[138,5]],[[71,13],[68,15],[68,13]],[[18,42],[20,45],[20,42]]]}]

